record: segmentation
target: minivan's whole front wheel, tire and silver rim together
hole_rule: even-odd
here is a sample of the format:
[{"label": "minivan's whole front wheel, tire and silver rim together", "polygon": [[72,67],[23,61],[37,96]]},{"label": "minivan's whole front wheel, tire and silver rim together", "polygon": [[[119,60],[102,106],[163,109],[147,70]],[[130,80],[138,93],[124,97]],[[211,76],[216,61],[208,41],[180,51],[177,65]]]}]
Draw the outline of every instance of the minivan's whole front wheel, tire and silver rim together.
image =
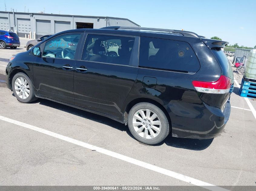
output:
[{"label": "minivan's whole front wheel, tire and silver rim together", "polygon": [[24,73],[17,73],[12,78],[12,91],[20,102],[30,103],[37,100],[31,80]]}]

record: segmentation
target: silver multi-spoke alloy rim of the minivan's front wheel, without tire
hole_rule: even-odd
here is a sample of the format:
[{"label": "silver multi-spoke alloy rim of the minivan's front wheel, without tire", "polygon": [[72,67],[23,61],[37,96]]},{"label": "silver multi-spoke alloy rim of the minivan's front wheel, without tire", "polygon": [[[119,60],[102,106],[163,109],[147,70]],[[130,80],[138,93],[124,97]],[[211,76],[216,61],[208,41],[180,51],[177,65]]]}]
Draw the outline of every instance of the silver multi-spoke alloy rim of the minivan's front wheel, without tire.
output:
[{"label": "silver multi-spoke alloy rim of the minivan's front wheel, without tire", "polygon": [[28,81],[25,78],[18,77],[14,82],[15,92],[21,99],[25,100],[30,94]]}]

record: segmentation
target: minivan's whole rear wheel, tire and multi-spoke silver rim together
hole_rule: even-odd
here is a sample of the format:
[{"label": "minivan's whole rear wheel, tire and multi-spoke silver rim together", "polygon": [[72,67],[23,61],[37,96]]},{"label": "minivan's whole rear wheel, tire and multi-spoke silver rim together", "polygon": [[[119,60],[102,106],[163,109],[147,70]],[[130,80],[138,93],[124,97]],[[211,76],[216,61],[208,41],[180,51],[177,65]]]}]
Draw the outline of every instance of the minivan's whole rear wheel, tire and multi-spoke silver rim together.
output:
[{"label": "minivan's whole rear wheel, tire and multi-spoke silver rim together", "polygon": [[137,103],[131,108],[128,127],[139,142],[148,145],[162,142],[169,134],[169,121],[165,113],[147,102]]}]

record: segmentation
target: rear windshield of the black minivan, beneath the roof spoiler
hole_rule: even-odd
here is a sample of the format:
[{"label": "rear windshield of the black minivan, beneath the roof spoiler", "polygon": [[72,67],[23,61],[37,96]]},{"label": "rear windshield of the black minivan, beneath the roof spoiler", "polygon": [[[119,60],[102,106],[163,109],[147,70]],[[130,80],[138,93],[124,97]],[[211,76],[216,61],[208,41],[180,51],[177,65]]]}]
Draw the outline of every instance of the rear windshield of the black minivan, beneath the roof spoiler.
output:
[{"label": "rear windshield of the black minivan, beneath the roof spoiler", "polygon": [[232,67],[228,61],[227,56],[221,51],[221,48],[212,48],[212,53],[221,65],[222,75],[227,76],[231,80],[234,79]]}]

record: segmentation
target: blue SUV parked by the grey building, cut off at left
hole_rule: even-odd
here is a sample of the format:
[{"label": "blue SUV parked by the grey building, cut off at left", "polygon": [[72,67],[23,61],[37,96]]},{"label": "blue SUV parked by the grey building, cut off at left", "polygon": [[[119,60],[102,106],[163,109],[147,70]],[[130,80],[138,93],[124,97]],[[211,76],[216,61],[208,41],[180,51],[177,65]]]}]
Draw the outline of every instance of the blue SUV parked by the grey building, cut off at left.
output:
[{"label": "blue SUV parked by the grey building, cut off at left", "polygon": [[0,30],[0,49],[6,49],[6,47],[16,49],[18,46],[20,46],[20,40],[16,33]]}]

